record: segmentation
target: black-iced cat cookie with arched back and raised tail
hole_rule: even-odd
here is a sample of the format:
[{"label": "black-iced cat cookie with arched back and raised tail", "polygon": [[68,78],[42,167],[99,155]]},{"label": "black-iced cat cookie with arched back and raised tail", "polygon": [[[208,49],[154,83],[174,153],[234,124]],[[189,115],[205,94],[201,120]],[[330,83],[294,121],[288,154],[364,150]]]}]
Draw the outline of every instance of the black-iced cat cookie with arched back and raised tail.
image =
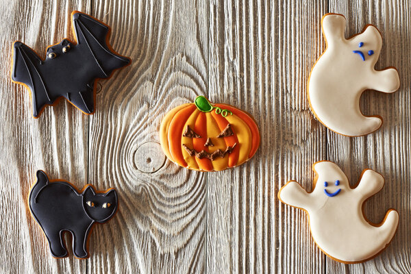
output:
[{"label": "black-iced cat cookie with arched back and raised tail", "polygon": [[86,185],[78,191],[69,182],[50,181],[44,171],[37,171],[37,182],[29,192],[29,208],[42,228],[51,255],[55,258],[69,256],[63,232],[73,236],[73,253],[77,258],[88,258],[88,238],[95,223],[105,223],[116,213],[116,190],[96,192]]}]

